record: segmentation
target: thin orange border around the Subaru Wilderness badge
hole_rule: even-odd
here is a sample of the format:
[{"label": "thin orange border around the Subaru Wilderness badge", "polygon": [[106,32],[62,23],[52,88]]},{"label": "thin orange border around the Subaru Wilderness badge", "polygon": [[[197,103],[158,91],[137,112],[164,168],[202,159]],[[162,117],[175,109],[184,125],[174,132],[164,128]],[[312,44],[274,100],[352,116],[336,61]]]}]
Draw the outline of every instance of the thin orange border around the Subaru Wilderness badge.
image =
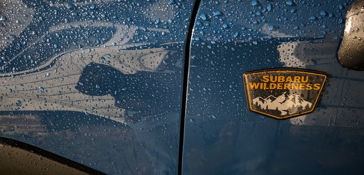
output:
[{"label": "thin orange border around the Subaru Wilderness badge", "polygon": [[[313,75],[318,75],[318,76],[325,77],[324,83],[321,86],[320,91],[318,92],[318,95],[317,95],[317,98],[316,98],[316,100],[315,100],[315,102],[313,104],[312,110],[306,111],[306,112],[303,112],[303,113],[299,113],[299,114],[289,115],[289,116],[286,116],[286,117],[276,117],[274,115],[266,114],[266,113],[263,113],[261,111],[253,110],[252,109],[252,106],[251,106],[252,103],[250,101],[250,94],[249,94],[249,87],[248,87],[248,83],[247,83],[248,82],[247,76],[256,75],[256,74],[273,73],[273,72],[274,73],[276,73],[276,72],[305,73],[305,74],[313,74]],[[304,114],[307,114],[307,113],[311,113],[313,110],[315,110],[315,108],[316,108],[316,106],[318,104],[317,101],[318,101],[318,99],[320,99],[320,94],[324,90],[324,87],[326,85],[326,82],[327,82],[327,79],[328,79],[328,74],[327,73],[324,73],[324,72],[319,72],[319,71],[314,71],[314,70],[307,70],[307,69],[276,68],[276,69],[265,69],[265,70],[256,70],[256,71],[246,72],[246,73],[243,74],[243,77],[244,77],[243,80],[244,80],[245,94],[246,94],[246,99],[247,99],[247,102],[248,102],[248,109],[250,111],[252,111],[253,113],[258,113],[258,114],[265,115],[267,117],[271,117],[271,118],[274,118],[274,119],[282,120],[282,119],[288,119],[288,118],[292,118],[292,117],[297,117],[297,116],[300,116],[300,115],[304,115]]]}]

